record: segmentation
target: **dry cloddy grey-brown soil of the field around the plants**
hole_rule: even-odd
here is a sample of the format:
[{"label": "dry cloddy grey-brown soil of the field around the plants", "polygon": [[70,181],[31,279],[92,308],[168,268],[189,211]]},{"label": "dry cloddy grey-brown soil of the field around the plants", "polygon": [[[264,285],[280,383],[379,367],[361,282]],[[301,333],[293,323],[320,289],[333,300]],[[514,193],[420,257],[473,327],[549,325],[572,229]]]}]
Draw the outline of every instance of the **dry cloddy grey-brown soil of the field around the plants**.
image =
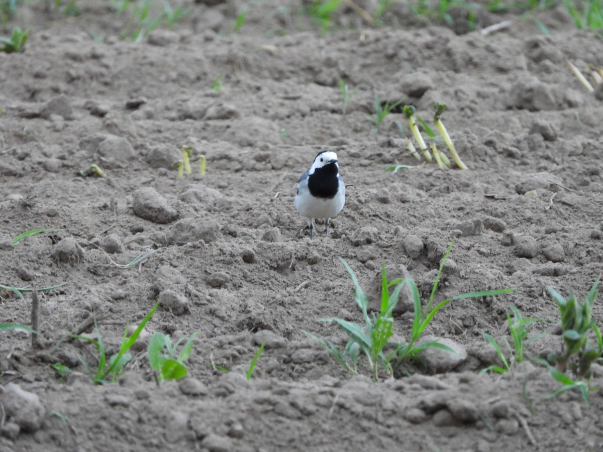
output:
[{"label": "dry cloddy grey-brown soil of the field around the plants", "polygon": [[[40,348],[24,331],[0,332],[0,449],[603,450],[598,367],[590,407],[577,391],[545,399],[560,383],[529,360],[478,375],[497,363],[482,333],[506,336],[511,306],[548,320],[534,334],[554,333],[546,287],[584,297],[601,273],[603,92],[587,92],[565,64],[602,65],[601,40],[562,8],[536,16],[550,36],[529,19],[455,34],[405,2],[384,16],[392,26],[343,11],[324,34],[298,2],[251,2],[232,33],[240,5],[215,3],[183,2],[192,11],[177,27],[138,43],[119,40],[127,19],[104,2],[78,2],[76,17],[24,5],[3,26],[4,36],[16,24],[32,31],[25,52],[0,54],[0,284],[69,283],[39,295]],[[340,79],[353,89],[345,109]],[[469,169],[415,160],[400,110],[374,134],[376,95],[427,120],[446,102]],[[178,179],[183,145],[206,155],[205,175],[194,163]],[[332,232],[310,240],[294,187],[328,148],[350,186]],[[92,163],[105,177],[78,174]],[[414,168],[384,171],[394,164]],[[58,231],[11,244],[33,228]],[[375,383],[301,332],[344,344],[319,319],[362,321],[338,256],[374,302],[382,262],[408,269],[426,300],[455,237],[436,301],[514,289],[435,316],[427,333],[456,356],[437,352]],[[134,268],[116,265],[152,250]],[[31,325],[31,293],[1,295],[0,322]],[[158,298],[127,372],[92,385],[78,358],[93,364],[92,347],[66,334],[94,314],[115,354]],[[397,313],[396,337],[411,322]],[[200,334],[185,379],[153,380],[145,340],[156,331]],[[526,356],[561,343],[548,334]]]}]

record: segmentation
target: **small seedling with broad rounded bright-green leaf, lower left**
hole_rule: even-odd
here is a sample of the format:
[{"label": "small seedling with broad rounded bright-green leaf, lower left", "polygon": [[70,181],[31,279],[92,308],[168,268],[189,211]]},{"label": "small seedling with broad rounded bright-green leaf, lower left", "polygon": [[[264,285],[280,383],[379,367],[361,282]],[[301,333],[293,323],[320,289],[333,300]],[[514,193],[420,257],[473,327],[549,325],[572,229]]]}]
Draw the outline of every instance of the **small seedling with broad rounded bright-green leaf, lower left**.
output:
[{"label": "small seedling with broad rounded bright-green leaf, lower left", "polygon": [[[168,334],[153,334],[149,341],[147,353],[157,381],[180,380],[186,377],[188,369],[186,369],[184,363],[191,357],[193,341],[198,335],[199,333],[191,334],[178,356],[176,356],[176,349],[184,337],[181,337],[172,345]],[[163,353],[164,349],[167,353]]]}]

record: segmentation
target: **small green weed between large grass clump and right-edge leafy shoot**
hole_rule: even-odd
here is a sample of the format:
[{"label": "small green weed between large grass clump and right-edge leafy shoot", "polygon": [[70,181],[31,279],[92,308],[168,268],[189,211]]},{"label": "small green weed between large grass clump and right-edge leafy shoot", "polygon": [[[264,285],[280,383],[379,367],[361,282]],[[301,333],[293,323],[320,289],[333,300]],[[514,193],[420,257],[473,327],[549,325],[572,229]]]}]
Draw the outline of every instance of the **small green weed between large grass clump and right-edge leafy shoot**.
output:
[{"label": "small green weed between large grass clump and right-edge leafy shoot", "polygon": [[502,348],[496,342],[494,337],[488,333],[482,333],[482,336],[485,337],[486,341],[488,341],[490,345],[494,347],[494,350],[496,350],[496,354],[504,365],[504,368],[497,365],[491,365],[485,369],[482,369],[482,371],[479,372],[480,375],[485,374],[485,372],[488,371],[493,371],[498,374],[504,374],[505,372],[510,371],[514,364],[523,361],[523,348],[530,342],[535,341],[539,337],[543,336],[543,334],[537,334],[536,336],[528,339],[530,325],[535,324],[536,322],[541,322],[543,319],[531,317],[523,318],[522,314],[515,306],[511,306],[511,311],[513,312],[513,317],[511,317],[507,312],[507,322],[509,325],[511,338],[513,339],[513,347],[511,347],[511,344],[509,344],[509,341],[507,341],[506,337],[503,337],[502,339],[502,342],[509,352],[509,359],[505,357]]}]

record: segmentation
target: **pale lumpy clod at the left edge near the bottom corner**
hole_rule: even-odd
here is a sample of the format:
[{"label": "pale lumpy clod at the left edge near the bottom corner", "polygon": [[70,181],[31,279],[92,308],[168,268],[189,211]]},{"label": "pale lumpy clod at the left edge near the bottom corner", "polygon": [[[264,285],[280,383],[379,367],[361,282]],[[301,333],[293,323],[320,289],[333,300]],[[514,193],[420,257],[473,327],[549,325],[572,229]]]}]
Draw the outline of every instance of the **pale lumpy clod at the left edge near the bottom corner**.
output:
[{"label": "pale lumpy clod at the left edge near the bottom corner", "polygon": [[8,421],[19,425],[23,432],[36,432],[42,425],[46,410],[39,397],[15,383],[8,383],[2,392],[2,405]]}]

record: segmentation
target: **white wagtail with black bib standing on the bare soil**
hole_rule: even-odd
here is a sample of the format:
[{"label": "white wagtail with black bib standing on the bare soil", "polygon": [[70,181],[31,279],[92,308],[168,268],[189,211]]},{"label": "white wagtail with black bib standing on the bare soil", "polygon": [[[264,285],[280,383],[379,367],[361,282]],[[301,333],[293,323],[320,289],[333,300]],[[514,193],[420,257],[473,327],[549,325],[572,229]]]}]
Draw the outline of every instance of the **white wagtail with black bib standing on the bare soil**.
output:
[{"label": "white wagtail with black bib standing on the bare soil", "polygon": [[314,218],[325,219],[324,233],[329,233],[329,219],[346,203],[346,184],[339,175],[337,154],[320,152],[308,171],[297,182],[295,209],[308,218],[310,238],[314,237]]}]

